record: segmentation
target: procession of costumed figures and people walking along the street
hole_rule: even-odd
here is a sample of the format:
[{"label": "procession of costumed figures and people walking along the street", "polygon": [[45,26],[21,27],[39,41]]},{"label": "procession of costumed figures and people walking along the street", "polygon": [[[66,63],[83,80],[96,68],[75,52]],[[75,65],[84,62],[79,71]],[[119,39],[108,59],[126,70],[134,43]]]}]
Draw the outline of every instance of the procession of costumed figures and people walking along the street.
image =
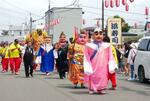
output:
[{"label": "procession of costumed figures and people walking along the street", "polygon": [[[93,31],[91,39],[86,30],[80,30],[75,33],[71,42],[68,42],[62,32],[58,42],[53,44],[51,36],[37,29],[27,35],[25,45],[20,44],[18,39],[12,43],[1,42],[1,71],[6,73],[10,67],[11,74],[19,75],[23,62],[26,78],[34,77],[33,72],[37,67],[40,67],[40,72],[46,76],[50,76],[56,70],[59,78],[69,79],[74,88],[80,85],[81,88],[88,88],[89,94],[105,94],[104,90],[107,89],[109,80],[112,82],[111,89],[116,90],[116,70],[129,74],[130,64],[129,80],[134,79],[133,62],[129,62],[132,60],[131,52],[128,52],[128,58],[126,51],[123,53],[121,49],[117,49],[107,37],[101,28]],[[133,44],[130,46],[132,48]],[[136,50],[133,52],[136,54]],[[120,64],[124,55],[126,63],[123,66]]]}]

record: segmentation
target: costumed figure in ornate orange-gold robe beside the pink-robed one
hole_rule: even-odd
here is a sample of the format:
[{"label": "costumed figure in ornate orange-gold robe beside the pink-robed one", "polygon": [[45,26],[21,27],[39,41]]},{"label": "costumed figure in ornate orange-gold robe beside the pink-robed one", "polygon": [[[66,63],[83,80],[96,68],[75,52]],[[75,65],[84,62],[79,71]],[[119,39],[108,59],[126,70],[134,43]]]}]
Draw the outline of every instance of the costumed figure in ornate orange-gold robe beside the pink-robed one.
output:
[{"label": "costumed figure in ornate orange-gold robe beside the pink-robed one", "polygon": [[69,75],[68,79],[74,84],[74,88],[77,88],[77,84],[81,84],[84,88],[84,45],[87,42],[87,34],[85,31],[81,31],[79,35],[76,35],[75,43],[69,46],[68,58],[69,58]]}]

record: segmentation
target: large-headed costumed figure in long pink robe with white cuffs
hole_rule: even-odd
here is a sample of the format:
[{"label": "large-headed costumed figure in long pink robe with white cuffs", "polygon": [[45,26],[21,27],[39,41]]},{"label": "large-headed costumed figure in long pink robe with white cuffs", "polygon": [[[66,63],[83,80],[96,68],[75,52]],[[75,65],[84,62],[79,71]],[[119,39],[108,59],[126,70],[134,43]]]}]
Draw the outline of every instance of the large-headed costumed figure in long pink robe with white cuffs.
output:
[{"label": "large-headed costumed figure in long pink robe with white cuffs", "polygon": [[84,50],[84,83],[89,93],[104,94],[108,84],[108,73],[114,73],[116,62],[109,43],[103,42],[103,32],[96,28],[93,33],[93,42],[87,43]]}]

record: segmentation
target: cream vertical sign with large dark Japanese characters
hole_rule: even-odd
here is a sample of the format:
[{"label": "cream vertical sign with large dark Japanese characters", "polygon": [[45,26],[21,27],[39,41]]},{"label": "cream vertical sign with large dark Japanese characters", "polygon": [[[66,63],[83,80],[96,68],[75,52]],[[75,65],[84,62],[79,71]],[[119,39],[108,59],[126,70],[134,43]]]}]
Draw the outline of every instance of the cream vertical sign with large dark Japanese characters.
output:
[{"label": "cream vertical sign with large dark Japanese characters", "polygon": [[108,36],[111,43],[122,44],[121,18],[108,19]]}]

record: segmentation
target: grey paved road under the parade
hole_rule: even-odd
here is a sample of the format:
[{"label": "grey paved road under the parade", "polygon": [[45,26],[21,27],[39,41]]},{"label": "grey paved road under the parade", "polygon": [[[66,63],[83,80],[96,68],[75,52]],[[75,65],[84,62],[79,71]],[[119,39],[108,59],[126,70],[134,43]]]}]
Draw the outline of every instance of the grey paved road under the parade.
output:
[{"label": "grey paved road under the parade", "polygon": [[118,75],[116,91],[106,90],[105,95],[89,95],[87,89],[74,89],[67,80],[35,72],[33,78],[25,78],[10,72],[0,73],[0,101],[149,101],[150,84],[127,81]]}]

